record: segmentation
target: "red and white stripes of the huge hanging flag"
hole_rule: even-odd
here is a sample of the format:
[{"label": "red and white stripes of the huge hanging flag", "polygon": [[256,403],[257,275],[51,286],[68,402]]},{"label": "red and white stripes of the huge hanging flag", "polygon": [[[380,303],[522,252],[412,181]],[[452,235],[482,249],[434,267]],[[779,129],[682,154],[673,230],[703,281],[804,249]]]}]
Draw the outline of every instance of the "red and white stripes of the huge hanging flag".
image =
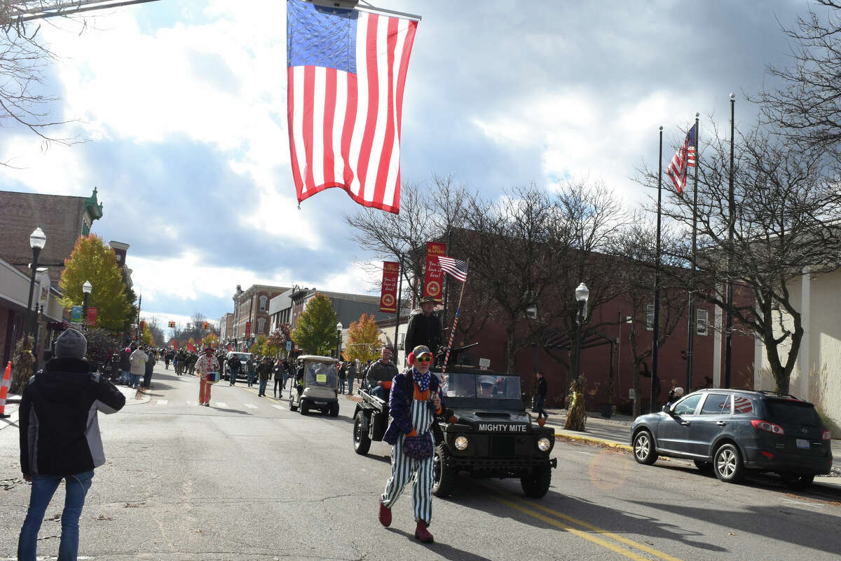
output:
[{"label": "red and white stripes of the huge hanging flag", "polygon": [[289,147],[298,201],[341,187],[399,213],[400,122],[417,22],[358,12],[357,73],[288,68]]}]

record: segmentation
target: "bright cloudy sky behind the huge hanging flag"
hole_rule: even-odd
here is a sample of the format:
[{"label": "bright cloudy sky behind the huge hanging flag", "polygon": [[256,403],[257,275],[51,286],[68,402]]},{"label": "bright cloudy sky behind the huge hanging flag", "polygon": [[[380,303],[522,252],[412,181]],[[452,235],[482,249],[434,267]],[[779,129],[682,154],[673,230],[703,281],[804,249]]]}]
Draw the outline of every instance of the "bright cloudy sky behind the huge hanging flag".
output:
[{"label": "bright cloudy sky behind the huge hanging flag", "polygon": [[[657,128],[680,139],[696,112],[723,123],[728,94],[769,87],[785,63],[780,23],[806,0],[537,2],[378,0],[421,14],[406,85],[402,175],[452,174],[493,197],[564,177],[604,180],[631,209],[632,181],[656,164]],[[44,24],[53,116],[43,143],[3,129],[4,190],[87,196],[93,231],[130,244],[143,307],[161,320],[231,311],[236,284],[363,292],[365,255],[330,189],[298,209],[286,124],[281,0],[161,0]],[[765,83],[765,86],[763,86]],[[703,130],[701,131],[703,134]],[[671,153],[664,153],[664,165]],[[407,220],[409,217],[406,217]]]}]

